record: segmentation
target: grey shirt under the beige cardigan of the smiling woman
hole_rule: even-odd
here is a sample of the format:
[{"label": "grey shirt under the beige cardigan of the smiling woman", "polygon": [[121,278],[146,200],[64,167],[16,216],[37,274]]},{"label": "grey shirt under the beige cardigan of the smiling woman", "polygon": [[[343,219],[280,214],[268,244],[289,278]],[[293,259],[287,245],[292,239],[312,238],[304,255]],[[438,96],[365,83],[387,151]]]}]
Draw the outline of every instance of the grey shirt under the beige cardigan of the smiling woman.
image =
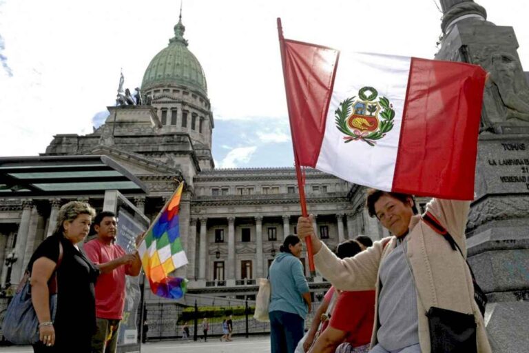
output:
[{"label": "grey shirt under the beige cardigan of the smiling woman", "polygon": [[377,339],[385,350],[400,350],[419,343],[417,293],[406,262],[406,241],[386,256],[380,266]]}]

